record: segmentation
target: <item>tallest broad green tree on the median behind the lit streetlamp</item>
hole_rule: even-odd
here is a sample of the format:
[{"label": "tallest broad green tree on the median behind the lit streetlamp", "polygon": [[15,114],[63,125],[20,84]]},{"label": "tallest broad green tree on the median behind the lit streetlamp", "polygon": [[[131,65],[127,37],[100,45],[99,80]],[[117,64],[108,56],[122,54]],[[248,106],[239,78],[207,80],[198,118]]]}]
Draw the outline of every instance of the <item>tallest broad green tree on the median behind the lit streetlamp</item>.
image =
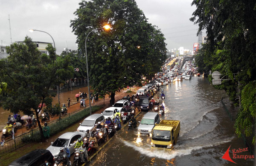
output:
[{"label": "tallest broad green tree on the median behind the lit streetlamp", "polygon": [[141,84],[141,76],[160,71],[166,59],[166,44],[160,30],[147,22],[134,0],[82,1],[71,27],[79,47],[87,53],[90,82],[101,96],[109,94],[111,104],[119,88]]}]

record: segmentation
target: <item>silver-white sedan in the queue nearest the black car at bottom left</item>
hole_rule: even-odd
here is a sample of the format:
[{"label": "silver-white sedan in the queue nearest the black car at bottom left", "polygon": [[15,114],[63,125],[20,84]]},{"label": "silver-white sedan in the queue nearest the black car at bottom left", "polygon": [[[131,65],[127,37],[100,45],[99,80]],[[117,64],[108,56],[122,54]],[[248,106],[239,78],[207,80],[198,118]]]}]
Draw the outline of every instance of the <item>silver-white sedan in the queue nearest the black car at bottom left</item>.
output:
[{"label": "silver-white sedan in the queue nearest the black car at bottom left", "polygon": [[61,147],[67,146],[70,150],[70,154],[75,152],[74,146],[77,143],[78,138],[81,138],[81,134],[78,132],[66,132],[59,136],[52,144],[47,148],[53,156],[58,155]]}]

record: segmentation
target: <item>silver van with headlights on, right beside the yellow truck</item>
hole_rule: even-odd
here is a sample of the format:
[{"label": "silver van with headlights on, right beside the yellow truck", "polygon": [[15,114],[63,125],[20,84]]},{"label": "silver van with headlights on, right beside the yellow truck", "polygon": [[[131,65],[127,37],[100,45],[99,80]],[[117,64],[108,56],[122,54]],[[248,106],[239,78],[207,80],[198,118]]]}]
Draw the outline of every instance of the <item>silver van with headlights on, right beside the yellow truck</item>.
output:
[{"label": "silver van with headlights on, right beside the yellow truck", "polygon": [[155,124],[159,124],[160,122],[160,118],[158,113],[153,113],[153,112],[149,112],[146,113],[143,118],[141,119],[141,121],[139,121],[140,125],[138,127],[138,135],[140,134],[145,134],[145,135],[149,135]]}]

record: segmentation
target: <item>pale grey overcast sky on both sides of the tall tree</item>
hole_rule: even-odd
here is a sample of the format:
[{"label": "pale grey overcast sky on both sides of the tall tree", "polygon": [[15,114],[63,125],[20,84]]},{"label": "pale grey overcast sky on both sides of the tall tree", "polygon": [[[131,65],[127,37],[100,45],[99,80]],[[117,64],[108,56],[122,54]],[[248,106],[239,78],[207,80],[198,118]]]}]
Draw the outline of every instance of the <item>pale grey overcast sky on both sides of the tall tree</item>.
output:
[{"label": "pale grey overcast sky on both sides of the tall tree", "polygon": [[[73,13],[79,8],[79,2],[81,0],[0,0],[0,44],[11,44],[10,15],[12,42],[23,41],[26,36],[33,41],[52,42],[45,33],[29,32],[34,28],[51,34],[58,54],[66,48],[66,41],[68,49],[76,50],[76,36],[70,28],[70,20],[75,18]],[[198,42],[198,26],[189,21],[195,11],[195,6],[191,6],[192,0],[136,2],[148,22],[161,29],[167,49],[193,49],[193,43]]]}]

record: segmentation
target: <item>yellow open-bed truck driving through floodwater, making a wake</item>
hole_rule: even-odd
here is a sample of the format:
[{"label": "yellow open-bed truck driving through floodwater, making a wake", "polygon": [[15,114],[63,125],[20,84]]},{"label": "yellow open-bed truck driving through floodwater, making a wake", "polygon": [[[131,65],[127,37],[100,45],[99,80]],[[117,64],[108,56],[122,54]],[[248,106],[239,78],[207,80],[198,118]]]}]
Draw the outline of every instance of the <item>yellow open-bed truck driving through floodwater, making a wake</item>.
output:
[{"label": "yellow open-bed truck driving through floodwater, making a wake", "polygon": [[162,120],[153,128],[151,146],[172,149],[180,135],[180,121]]}]

